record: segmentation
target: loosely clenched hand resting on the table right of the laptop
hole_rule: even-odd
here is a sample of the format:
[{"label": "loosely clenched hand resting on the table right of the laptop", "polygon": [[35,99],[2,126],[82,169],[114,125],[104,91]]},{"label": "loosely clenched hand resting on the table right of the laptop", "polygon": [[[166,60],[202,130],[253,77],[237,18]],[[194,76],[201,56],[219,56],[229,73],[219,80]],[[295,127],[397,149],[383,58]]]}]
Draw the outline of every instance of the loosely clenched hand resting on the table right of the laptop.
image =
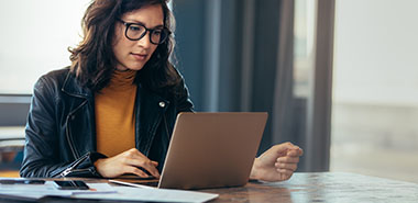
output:
[{"label": "loosely clenched hand resting on the table right of the laptop", "polygon": [[304,150],[292,143],[271,147],[255,158],[250,179],[262,181],[288,180],[297,169],[299,157]]}]

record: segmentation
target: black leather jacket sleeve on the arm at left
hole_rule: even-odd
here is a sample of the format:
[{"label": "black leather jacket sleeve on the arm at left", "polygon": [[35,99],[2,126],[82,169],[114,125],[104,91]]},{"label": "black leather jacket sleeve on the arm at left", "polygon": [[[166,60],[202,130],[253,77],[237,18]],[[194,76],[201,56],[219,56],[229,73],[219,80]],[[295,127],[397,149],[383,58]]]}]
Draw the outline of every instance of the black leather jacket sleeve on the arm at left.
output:
[{"label": "black leather jacket sleeve on the arm at left", "polygon": [[59,135],[57,129],[56,95],[53,79],[41,77],[36,82],[25,127],[24,157],[21,177],[100,177],[94,162],[105,156],[88,153],[77,160],[63,162],[59,158]]}]

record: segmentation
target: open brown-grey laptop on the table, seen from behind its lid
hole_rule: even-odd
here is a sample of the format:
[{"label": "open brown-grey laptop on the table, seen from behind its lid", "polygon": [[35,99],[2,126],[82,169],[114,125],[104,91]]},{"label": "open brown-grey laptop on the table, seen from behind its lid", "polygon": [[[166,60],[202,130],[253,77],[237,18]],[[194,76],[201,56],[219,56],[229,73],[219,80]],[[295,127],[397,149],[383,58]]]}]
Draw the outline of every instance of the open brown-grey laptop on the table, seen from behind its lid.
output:
[{"label": "open brown-grey laptop on the table, seen from behind its lid", "polygon": [[266,120],[266,112],[179,113],[157,188],[244,185],[249,181]]}]

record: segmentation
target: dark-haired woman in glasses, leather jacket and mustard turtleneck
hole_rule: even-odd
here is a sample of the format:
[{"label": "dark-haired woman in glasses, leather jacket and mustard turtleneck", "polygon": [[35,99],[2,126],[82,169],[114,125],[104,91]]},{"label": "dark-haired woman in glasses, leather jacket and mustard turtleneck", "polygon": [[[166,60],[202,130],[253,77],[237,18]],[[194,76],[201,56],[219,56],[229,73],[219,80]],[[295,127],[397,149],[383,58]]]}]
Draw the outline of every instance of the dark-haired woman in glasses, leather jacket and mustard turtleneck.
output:
[{"label": "dark-haired woman in glasses, leather jacket and mustard turtleneck", "polygon": [[[168,61],[173,24],[165,0],[91,2],[72,66],[34,87],[22,177],[160,177],[176,115],[193,111]],[[287,180],[301,154],[290,143],[274,146],[251,178]]]}]

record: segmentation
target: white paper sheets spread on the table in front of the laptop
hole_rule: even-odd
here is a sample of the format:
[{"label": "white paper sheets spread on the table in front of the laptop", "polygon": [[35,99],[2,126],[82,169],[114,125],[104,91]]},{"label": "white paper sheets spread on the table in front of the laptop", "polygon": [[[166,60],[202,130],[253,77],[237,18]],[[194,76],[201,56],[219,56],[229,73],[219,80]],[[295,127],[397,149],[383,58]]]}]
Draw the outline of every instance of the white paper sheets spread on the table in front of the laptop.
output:
[{"label": "white paper sheets spread on the table in front of the laptop", "polygon": [[58,190],[52,181],[45,184],[0,184],[0,194],[41,199],[46,195],[82,199],[148,201],[148,202],[207,202],[219,195],[212,193],[156,188],[111,187],[109,183],[87,183],[90,190]]}]

